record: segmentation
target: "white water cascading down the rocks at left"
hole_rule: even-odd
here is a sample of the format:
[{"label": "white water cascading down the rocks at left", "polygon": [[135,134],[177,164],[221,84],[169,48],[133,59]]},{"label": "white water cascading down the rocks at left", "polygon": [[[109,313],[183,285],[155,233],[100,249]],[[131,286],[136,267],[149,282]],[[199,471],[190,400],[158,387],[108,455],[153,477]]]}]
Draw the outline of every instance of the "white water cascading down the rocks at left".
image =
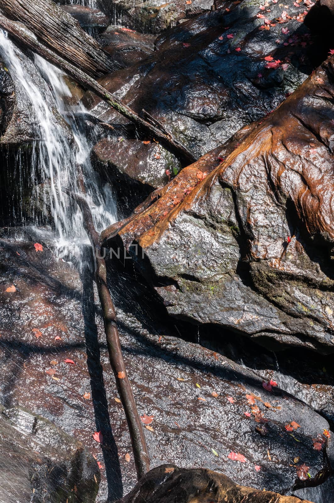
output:
[{"label": "white water cascading down the rocks at left", "polygon": [[[64,98],[71,94],[64,74],[39,56],[34,61],[29,59],[4,32],[0,32],[0,51],[15,82],[18,99],[30,104],[34,136],[38,138],[33,142],[30,169],[36,198],[42,199],[45,212],[50,208],[59,251],[79,253],[79,244],[87,239],[82,230],[80,211],[75,205],[73,209],[62,189],[78,192],[80,166],[87,181],[86,197],[98,230],[116,221],[116,205],[111,191],[103,187],[92,169],[92,144],[76,126],[73,110],[65,105]],[[77,109],[85,112],[82,106]],[[66,128],[68,134],[64,133]],[[39,177],[42,183],[37,183]],[[38,225],[37,218],[34,223]]]}]

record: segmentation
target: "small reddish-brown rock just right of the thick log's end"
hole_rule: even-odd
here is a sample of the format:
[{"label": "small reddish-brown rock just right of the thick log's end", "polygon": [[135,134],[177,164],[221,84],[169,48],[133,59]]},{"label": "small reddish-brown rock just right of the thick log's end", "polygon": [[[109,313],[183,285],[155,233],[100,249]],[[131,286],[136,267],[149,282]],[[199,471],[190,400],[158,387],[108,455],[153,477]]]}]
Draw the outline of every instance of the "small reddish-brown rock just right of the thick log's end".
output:
[{"label": "small reddish-brown rock just right of the thick log's end", "polygon": [[154,40],[154,35],[144,35],[128,28],[113,26],[109,26],[99,38],[104,50],[124,67],[150,56],[154,50]]}]

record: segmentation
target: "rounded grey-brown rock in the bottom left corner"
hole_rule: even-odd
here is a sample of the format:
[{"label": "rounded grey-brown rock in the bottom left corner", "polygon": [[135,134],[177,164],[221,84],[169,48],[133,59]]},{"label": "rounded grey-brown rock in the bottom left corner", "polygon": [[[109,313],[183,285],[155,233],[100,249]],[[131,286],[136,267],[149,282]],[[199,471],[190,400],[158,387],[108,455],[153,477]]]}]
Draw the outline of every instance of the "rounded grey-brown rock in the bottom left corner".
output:
[{"label": "rounded grey-brown rock in the bottom left corner", "polygon": [[94,501],[100,473],[80,442],[21,407],[1,407],[0,432],[2,502]]}]

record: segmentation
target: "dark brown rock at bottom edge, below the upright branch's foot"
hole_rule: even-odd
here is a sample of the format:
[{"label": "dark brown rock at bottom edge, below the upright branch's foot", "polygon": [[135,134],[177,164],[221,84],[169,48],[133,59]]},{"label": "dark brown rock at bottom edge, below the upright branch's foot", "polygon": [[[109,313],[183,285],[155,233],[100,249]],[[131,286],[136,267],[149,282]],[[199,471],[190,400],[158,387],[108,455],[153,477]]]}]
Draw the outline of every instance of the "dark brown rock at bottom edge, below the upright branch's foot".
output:
[{"label": "dark brown rock at bottom edge, below the upright branch's foot", "polygon": [[[149,471],[130,494],[118,503],[301,503],[296,497],[280,496],[242,487],[221,473],[210,470],[184,470],[162,465]],[[303,500],[305,503],[310,501]]]}]

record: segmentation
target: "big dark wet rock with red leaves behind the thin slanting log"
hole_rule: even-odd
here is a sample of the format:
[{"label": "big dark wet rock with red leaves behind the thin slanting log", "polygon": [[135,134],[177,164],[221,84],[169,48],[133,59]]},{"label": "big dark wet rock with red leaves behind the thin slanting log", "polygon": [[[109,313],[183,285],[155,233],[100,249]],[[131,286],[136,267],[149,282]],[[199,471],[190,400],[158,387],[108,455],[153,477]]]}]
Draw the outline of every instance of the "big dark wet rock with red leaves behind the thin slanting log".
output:
[{"label": "big dark wet rock with red leaves behind the thin slanting log", "polygon": [[[200,157],[274,110],[321,62],[317,38],[302,23],[304,8],[290,1],[288,11],[273,3],[267,12],[245,0],[205,13],[160,35],[152,55],[101,84],[162,121]],[[270,30],[261,30],[269,26],[263,12]],[[84,104],[104,121],[129,124],[90,92]],[[160,164],[169,169],[162,157]]]}]

